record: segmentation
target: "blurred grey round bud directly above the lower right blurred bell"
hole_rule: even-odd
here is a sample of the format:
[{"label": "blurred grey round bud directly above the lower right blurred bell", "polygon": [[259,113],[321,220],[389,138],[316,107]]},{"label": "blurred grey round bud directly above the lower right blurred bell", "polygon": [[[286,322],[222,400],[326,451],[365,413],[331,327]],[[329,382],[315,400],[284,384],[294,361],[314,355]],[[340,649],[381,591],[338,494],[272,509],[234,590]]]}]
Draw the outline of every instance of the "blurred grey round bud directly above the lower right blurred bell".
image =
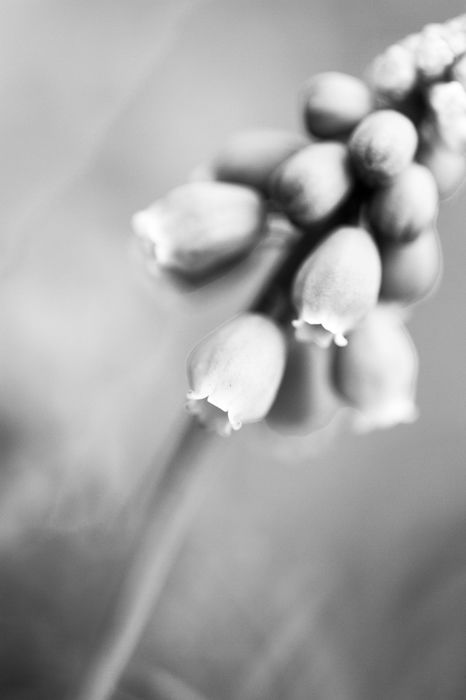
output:
[{"label": "blurred grey round bud directly above the lower right blurred bell", "polygon": [[442,273],[442,251],[434,228],[409,243],[383,246],[380,296],[412,304],[434,291]]}]

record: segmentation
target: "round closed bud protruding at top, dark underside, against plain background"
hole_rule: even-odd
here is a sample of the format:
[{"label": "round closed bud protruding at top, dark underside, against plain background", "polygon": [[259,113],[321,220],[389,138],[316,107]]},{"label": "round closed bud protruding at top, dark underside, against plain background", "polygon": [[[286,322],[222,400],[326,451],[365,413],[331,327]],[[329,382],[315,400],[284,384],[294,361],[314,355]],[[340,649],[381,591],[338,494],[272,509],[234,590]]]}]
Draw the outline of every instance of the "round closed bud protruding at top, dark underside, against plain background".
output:
[{"label": "round closed bud protruding at top, dark underside, against plain background", "polygon": [[346,73],[318,73],[306,82],[303,92],[306,127],[322,138],[347,134],[372,109],[367,85]]}]

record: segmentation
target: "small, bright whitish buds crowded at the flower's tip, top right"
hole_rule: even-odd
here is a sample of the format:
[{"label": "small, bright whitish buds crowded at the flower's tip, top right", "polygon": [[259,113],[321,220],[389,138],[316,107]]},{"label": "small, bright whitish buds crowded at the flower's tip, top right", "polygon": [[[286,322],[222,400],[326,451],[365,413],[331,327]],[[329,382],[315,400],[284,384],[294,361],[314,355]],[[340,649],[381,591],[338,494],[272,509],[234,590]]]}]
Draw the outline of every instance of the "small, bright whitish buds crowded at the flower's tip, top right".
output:
[{"label": "small, bright whitish buds crowded at the flower's tip, top right", "polygon": [[378,106],[416,121],[419,162],[442,196],[454,192],[466,171],[466,15],[393,44],[375,59],[368,79]]}]

